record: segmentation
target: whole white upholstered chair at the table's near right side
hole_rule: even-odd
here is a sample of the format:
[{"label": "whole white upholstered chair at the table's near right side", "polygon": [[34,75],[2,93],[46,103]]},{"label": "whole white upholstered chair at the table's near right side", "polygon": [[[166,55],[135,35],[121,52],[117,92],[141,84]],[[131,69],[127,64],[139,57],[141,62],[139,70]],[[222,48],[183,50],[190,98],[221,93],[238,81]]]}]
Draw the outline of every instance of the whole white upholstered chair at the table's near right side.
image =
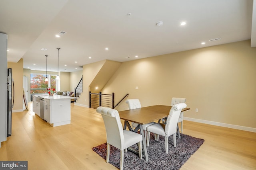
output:
[{"label": "whole white upholstered chair at the table's near right side", "polygon": [[[180,112],[182,109],[186,108],[187,105],[185,103],[175,104],[170,109],[169,115],[166,120],[166,124],[163,123],[155,123],[147,128],[148,131],[148,139],[147,146],[149,145],[150,140],[150,132],[155,133],[157,136],[161,135],[165,137],[165,152],[168,154],[168,137],[173,135],[173,145],[176,147],[176,127],[178,123],[178,119],[180,116]],[[158,137],[156,137],[158,140]]]}]

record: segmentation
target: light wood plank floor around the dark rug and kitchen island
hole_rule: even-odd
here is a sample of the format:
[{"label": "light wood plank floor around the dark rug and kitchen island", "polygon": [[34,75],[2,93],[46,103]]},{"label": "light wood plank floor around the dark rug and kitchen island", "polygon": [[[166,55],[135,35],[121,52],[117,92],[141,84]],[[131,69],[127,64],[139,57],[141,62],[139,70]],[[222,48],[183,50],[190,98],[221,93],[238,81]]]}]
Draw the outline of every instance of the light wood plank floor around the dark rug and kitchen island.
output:
[{"label": "light wood plank floor around the dark rug and kitchen island", "polygon": [[[12,136],[1,143],[0,160],[28,160],[29,170],[116,169],[92,151],[106,142],[95,109],[71,104],[71,124],[51,127],[30,111],[12,114]],[[205,140],[181,170],[255,170],[256,133],[184,121],[184,134]]]}]

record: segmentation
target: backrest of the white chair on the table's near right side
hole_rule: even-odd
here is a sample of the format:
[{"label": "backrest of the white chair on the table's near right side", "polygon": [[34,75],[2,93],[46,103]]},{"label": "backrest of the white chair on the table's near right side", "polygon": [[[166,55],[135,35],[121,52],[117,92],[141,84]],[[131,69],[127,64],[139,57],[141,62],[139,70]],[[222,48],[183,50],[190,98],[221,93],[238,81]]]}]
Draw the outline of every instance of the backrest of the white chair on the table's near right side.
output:
[{"label": "backrest of the white chair on the table's near right side", "polygon": [[170,136],[176,133],[176,127],[177,127],[178,119],[180,116],[180,112],[182,109],[186,107],[187,105],[185,103],[175,104],[172,106],[172,108],[170,109],[169,115],[167,117],[165,129],[164,129],[166,136]]}]

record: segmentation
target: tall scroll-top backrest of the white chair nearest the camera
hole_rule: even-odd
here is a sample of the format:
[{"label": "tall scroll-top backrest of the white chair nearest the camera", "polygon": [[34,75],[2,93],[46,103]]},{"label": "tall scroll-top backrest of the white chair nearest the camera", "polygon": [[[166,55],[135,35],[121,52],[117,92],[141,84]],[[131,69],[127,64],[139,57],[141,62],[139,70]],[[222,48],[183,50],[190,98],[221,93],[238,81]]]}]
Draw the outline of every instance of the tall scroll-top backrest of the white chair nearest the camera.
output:
[{"label": "tall scroll-top backrest of the white chair nearest the camera", "polygon": [[102,115],[107,133],[107,143],[121,150],[124,145],[124,134],[118,111],[102,106],[98,107],[96,111]]}]

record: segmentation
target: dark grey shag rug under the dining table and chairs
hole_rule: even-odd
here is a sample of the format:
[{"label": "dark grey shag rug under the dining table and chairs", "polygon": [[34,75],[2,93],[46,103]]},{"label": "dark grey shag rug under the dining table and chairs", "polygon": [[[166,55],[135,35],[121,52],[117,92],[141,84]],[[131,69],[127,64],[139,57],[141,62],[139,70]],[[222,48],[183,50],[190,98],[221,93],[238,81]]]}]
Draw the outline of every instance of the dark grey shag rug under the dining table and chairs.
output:
[{"label": "dark grey shag rug under the dining table and chairs", "polygon": [[[148,150],[148,162],[140,160],[137,154],[124,152],[124,170],[178,170],[188,161],[190,156],[204,143],[204,139],[198,139],[189,135],[180,134],[176,139],[177,147],[173,146],[173,137],[168,137],[169,154],[165,152],[165,137],[159,135],[159,141],[154,140],[154,134],[150,134]],[[137,145],[132,146],[138,149]],[[107,144],[93,147],[92,150],[106,160]],[[120,150],[110,147],[109,163],[120,168]]]}]

